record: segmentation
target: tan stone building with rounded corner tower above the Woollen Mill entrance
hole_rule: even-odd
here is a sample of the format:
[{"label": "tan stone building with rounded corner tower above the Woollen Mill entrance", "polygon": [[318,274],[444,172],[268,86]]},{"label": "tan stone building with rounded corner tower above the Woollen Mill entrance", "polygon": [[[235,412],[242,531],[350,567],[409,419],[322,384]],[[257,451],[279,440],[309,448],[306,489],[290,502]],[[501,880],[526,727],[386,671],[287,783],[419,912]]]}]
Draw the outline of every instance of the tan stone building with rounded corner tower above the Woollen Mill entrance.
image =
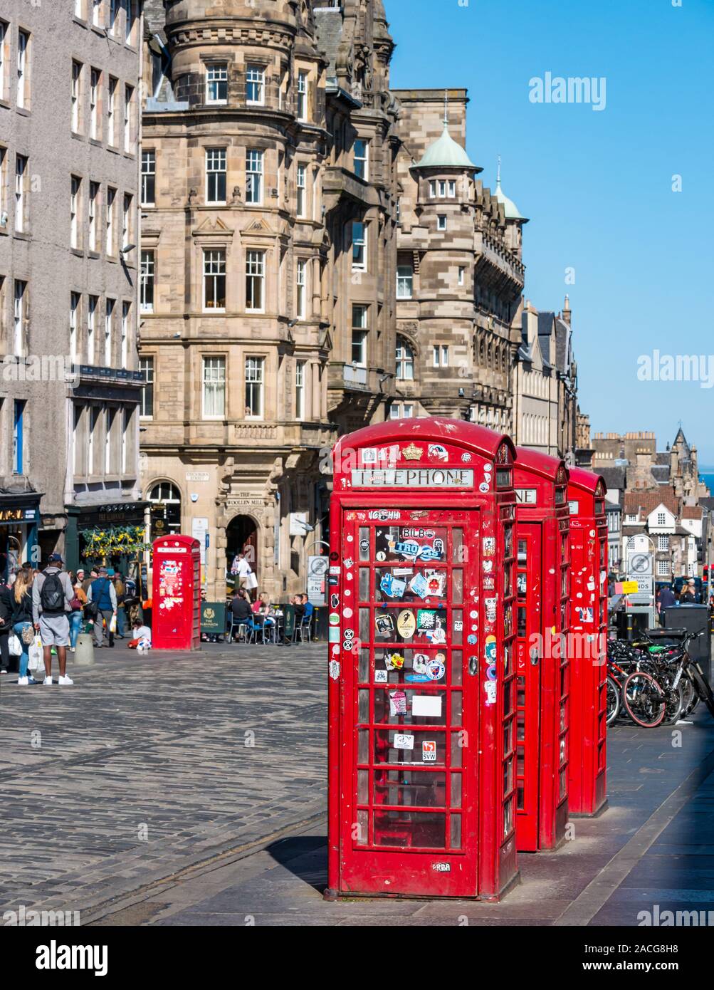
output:
[{"label": "tan stone building with rounded corner tower above the Woollen Mill entrance", "polygon": [[[165,8],[165,9],[164,9]],[[397,107],[381,0],[145,5],[143,492],[303,591],[327,450],[394,390]]]}]

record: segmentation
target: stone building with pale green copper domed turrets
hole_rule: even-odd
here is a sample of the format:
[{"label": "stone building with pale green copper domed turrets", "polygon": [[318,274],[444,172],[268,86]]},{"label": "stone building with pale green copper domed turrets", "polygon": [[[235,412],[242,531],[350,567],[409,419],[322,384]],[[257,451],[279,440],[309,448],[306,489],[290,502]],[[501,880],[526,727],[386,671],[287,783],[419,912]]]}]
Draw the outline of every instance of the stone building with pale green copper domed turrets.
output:
[{"label": "stone building with pale green copper domed turrets", "polygon": [[464,89],[400,89],[397,361],[391,415],[512,429],[512,329],[527,220],[466,152]]}]

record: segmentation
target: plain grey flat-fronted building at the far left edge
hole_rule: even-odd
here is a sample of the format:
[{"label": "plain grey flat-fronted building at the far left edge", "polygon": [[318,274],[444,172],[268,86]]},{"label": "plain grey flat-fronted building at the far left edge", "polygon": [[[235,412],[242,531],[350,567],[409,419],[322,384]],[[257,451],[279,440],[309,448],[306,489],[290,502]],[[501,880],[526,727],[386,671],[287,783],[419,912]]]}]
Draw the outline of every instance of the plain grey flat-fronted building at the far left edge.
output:
[{"label": "plain grey flat-fronted building at the far left edge", "polygon": [[0,571],[140,524],[135,0],[0,7]]}]

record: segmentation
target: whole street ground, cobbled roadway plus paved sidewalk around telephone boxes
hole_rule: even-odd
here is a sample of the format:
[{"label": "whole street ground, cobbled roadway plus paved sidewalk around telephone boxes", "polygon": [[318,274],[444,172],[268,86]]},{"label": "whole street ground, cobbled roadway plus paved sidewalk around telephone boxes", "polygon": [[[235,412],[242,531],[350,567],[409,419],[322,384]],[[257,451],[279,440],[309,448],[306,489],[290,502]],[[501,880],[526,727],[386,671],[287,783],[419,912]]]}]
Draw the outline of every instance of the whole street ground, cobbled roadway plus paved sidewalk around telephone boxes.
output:
[{"label": "whole street ground, cobbled roadway plus paved sidewalk around telephone boxes", "polygon": [[611,730],[608,810],[575,820],[556,852],[521,855],[501,903],[324,902],[323,649],[119,647],[75,669],[73,688],[3,678],[0,905],[162,926],[632,926],[714,909],[705,711]]}]

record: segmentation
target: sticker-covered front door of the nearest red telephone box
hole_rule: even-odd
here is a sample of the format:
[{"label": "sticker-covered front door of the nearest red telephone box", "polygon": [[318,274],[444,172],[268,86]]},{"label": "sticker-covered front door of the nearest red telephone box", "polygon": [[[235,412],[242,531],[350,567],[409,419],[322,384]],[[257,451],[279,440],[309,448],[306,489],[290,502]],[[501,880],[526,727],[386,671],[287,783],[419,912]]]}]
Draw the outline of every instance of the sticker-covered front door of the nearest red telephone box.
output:
[{"label": "sticker-covered front door of the nearest red telephone box", "polygon": [[341,601],[332,596],[329,617],[345,667],[341,889],[474,896],[479,678],[468,653],[478,619],[465,602],[479,512],[343,519]]}]

